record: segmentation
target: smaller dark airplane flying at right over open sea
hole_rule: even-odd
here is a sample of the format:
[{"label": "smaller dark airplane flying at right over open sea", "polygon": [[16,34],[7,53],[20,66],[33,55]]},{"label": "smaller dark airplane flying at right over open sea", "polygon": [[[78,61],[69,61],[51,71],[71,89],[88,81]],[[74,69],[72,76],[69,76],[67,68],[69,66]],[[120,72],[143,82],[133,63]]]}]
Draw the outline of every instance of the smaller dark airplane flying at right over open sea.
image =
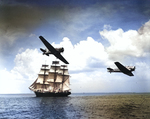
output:
[{"label": "smaller dark airplane flying at right over open sea", "polygon": [[135,71],[135,66],[123,66],[119,62],[115,62],[115,65],[118,67],[118,69],[107,68],[108,72],[122,72],[128,76],[134,76],[132,71]]}]

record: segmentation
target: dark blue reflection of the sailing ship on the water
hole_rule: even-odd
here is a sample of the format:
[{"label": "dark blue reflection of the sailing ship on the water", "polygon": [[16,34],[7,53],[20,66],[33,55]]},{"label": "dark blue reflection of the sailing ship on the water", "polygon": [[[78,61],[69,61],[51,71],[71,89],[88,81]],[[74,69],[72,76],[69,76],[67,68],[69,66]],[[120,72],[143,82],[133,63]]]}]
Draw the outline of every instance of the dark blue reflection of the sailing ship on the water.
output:
[{"label": "dark blue reflection of the sailing ship on the water", "polygon": [[40,118],[66,119],[68,118],[67,105],[69,97],[40,98],[37,110]]}]

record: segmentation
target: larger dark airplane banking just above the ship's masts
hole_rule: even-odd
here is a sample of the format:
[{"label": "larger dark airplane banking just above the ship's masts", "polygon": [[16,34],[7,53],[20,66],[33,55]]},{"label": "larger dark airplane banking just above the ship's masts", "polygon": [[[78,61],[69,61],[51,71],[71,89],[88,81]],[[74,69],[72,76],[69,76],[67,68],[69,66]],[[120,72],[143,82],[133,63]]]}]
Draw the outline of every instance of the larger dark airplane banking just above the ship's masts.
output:
[{"label": "larger dark airplane banking just above the ship's masts", "polygon": [[54,48],[49,42],[45,40],[42,36],[39,36],[41,41],[44,43],[44,45],[47,47],[47,49],[42,49],[40,50],[43,52],[43,55],[49,56],[49,54],[53,54],[55,57],[60,59],[62,62],[69,64],[67,60],[60,54],[61,52],[64,52],[64,48]]}]

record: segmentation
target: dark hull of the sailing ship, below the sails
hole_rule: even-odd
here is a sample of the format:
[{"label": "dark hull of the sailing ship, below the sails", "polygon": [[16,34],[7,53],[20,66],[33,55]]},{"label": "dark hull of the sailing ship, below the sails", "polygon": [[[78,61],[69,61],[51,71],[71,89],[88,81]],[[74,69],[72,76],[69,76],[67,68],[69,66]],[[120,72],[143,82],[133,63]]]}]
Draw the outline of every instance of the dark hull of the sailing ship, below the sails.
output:
[{"label": "dark hull of the sailing ship, below the sails", "polygon": [[34,92],[36,97],[67,97],[71,94],[71,92],[60,92],[60,93],[53,93],[53,92]]}]

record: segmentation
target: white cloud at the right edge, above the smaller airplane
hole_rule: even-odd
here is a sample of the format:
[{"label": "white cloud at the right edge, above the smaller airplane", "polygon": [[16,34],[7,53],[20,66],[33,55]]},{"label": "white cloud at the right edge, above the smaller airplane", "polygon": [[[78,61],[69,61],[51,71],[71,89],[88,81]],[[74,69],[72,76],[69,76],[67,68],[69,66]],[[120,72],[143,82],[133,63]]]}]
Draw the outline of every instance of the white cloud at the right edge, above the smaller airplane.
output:
[{"label": "white cloud at the right edge, above the smaller airplane", "polygon": [[150,21],[145,23],[138,31],[121,28],[117,30],[104,29],[100,31],[103,39],[107,39],[110,46],[106,48],[110,59],[117,60],[126,56],[145,57],[150,52]]}]

